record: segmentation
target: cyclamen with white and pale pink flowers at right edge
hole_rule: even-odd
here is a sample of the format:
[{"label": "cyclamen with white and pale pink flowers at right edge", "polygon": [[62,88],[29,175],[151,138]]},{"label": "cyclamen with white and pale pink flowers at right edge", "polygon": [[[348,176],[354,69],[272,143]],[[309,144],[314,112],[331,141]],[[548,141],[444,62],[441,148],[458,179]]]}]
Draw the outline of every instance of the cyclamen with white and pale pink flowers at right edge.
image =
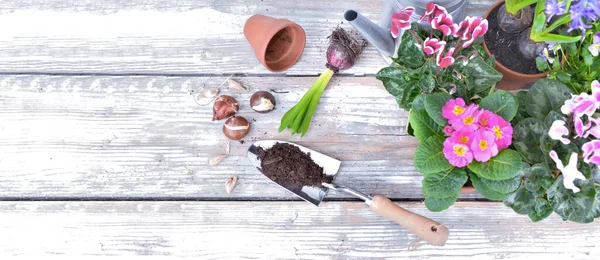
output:
[{"label": "cyclamen with white and pale pink flowers at right edge", "polygon": [[518,189],[505,204],[539,221],[555,212],[588,223],[600,217],[600,83],[573,95],[558,80],[542,79],[527,92],[513,119],[513,146],[524,158]]}]

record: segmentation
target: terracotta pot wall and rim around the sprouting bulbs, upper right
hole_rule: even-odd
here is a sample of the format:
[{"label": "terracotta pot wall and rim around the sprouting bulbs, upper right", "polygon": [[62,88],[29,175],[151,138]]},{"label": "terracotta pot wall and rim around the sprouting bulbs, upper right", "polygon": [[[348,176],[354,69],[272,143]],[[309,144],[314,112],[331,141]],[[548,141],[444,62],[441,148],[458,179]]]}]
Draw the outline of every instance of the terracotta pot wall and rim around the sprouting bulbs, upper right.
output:
[{"label": "terracotta pot wall and rim around the sprouting bulbs, upper right", "polygon": [[[488,19],[488,16],[490,15],[490,13],[494,9],[499,8],[502,4],[504,4],[504,1],[496,2],[496,4],[494,4],[492,7],[490,7],[490,9],[487,10],[487,12],[483,16],[483,18]],[[483,41],[483,48],[485,49],[485,52],[488,55],[493,55],[492,53],[490,53],[490,50],[488,49],[488,47],[485,43],[485,40]],[[500,73],[502,73],[502,79],[500,80],[500,82],[498,82],[498,84],[496,84],[496,88],[499,88],[499,89],[504,89],[504,90],[520,89],[529,83],[535,82],[538,79],[546,77],[545,73],[538,73],[538,74],[519,73],[519,72],[516,72],[514,70],[511,70],[511,69],[505,67],[500,62],[498,62],[498,60],[496,60],[495,62],[496,62],[496,70],[498,70]]]}]

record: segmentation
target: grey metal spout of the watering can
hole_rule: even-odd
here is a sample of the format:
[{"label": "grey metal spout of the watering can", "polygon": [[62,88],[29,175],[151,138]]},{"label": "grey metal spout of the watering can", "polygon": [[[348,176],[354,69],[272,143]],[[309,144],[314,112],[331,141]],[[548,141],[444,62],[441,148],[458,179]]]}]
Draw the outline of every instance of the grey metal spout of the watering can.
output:
[{"label": "grey metal spout of the watering can", "polygon": [[393,57],[396,42],[386,28],[371,22],[354,10],[344,13],[344,19],[348,21],[369,43],[371,43],[384,57]]}]

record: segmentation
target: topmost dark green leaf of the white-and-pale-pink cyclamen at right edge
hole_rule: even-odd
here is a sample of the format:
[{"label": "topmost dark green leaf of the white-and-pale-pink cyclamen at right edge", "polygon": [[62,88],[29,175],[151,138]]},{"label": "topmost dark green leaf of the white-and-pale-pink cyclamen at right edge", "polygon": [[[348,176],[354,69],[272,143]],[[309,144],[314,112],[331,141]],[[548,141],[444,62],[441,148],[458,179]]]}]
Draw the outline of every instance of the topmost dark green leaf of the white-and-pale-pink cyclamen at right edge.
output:
[{"label": "topmost dark green leaf of the white-and-pale-pink cyclamen at right edge", "polygon": [[571,98],[571,90],[564,83],[540,79],[533,84],[527,94],[527,113],[544,120],[552,110],[559,110],[565,100]]}]

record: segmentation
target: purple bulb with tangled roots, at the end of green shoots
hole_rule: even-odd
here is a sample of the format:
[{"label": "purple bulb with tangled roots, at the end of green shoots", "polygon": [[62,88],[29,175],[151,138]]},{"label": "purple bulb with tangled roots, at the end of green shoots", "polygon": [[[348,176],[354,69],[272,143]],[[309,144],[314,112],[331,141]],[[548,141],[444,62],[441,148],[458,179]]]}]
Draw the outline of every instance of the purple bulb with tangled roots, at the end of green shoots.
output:
[{"label": "purple bulb with tangled roots, at the end of green shoots", "polygon": [[359,33],[336,28],[329,36],[327,67],[334,71],[351,68],[366,46],[367,41]]}]

